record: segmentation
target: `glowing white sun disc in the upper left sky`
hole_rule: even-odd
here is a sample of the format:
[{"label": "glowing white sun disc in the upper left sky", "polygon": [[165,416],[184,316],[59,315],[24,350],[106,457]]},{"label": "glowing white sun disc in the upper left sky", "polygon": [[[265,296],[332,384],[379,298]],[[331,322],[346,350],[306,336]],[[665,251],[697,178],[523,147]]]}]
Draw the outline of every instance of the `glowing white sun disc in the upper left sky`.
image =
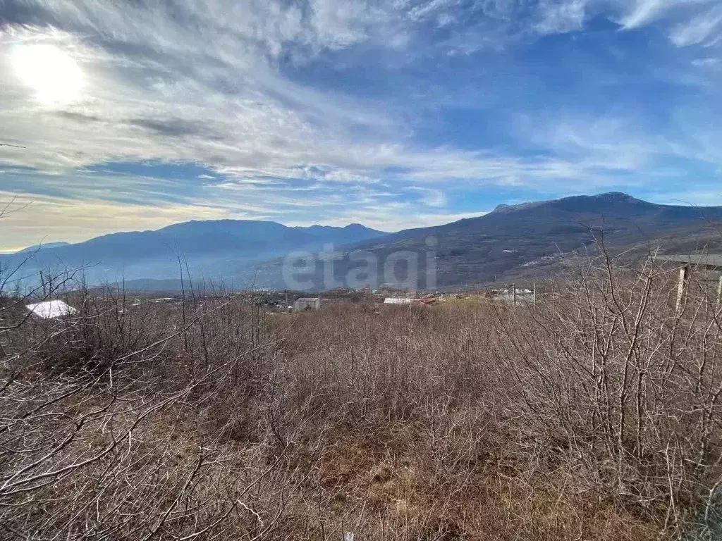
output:
[{"label": "glowing white sun disc in the upper left sky", "polygon": [[12,63],[22,82],[35,90],[35,97],[48,104],[77,100],[82,71],[64,50],[46,43],[17,45]]}]

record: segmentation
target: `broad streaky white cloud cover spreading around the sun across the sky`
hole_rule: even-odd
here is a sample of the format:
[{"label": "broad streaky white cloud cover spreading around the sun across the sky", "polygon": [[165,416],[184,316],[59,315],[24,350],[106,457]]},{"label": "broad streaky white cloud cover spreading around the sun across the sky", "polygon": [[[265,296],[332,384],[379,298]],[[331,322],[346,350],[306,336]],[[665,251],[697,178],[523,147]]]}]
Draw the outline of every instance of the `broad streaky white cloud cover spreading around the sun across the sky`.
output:
[{"label": "broad streaky white cloud cover spreading around the sun across the sky", "polygon": [[[619,172],[637,174],[677,150],[661,136],[593,118],[517,134],[546,150],[538,154],[421,144],[422,120],[405,88],[395,100],[344,92],[333,84],[332,70],[321,76],[331,83],[314,86],[306,68],[344,50],[344,61],[373,57],[380,69],[388,69],[388,58],[403,63],[427,55],[436,62],[450,51],[504,50],[540,34],[580,30],[610,5],[613,12],[604,14],[630,29],[679,13],[671,30],[675,43],[707,43],[713,18],[693,15],[709,3],[487,0],[470,8],[462,0],[199,0],[175,2],[171,11],[151,0],[24,0],[18,13],[35,16],[23,19],[5,2],[0,129],[3,142],[25,148],[3,147],[2,162],[25,182],[14,191],[59,209],[48,216],[58,216],[56,231],[70,239],[82,234],[61,226],[59,216],[77,214],[80,203],[73,201],[110,206],[113,230],[139,223],[134,219],[143,204],[166,209],[147,217],[147,227],[171,216],[284,221],[292,211],[307,223],[367,216],[377,225],[395,224],[386,226],[392,229],[452,216],[444,214],[452,187],[606,185],[617,182]],[[432,43],[431,32],[445,37]],[[83,72],[82,92],[69,105],[38,102],[12,69],[12,49],[38,42],[56,44]],[[194,172],[181,185],[89,172],[107,162],[191,162],[208,173]],[[27,167],[35,171],[21,169]],[[414,204],[395,201],[409,192],[417,195]],[[438,214],[419,214],[419,202]],[[124,205],[134,217],[129,221],[118,210]],[[35,221],[36,208],[29,215]],[[359,208],[373,211],[360,214]],[[23,238],[29,237],[22,231],[35,235],[25,229],[30,221],[18,226]]]}]

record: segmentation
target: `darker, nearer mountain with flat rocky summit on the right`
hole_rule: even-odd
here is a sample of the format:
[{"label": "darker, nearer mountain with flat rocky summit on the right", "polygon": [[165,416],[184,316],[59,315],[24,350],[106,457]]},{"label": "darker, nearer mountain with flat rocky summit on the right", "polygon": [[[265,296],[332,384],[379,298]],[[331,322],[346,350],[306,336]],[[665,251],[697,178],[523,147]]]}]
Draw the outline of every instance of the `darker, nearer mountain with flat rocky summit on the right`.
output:
[{"label": "darker, nearer mountain with flat rocky summit on the right", "polygon": [[[354,285],[348,278],[358,276],[365,263],[354,263],[349,256],[363,253],[378,260],[378,281],[391,286],[399,285],[383,273],[391,254],[417,255],[419,289],[426,288],[425,271],[432,261],[436,284],[430,286],[437,289],[548,276],[560,261],[574,252],[593,252],[602,240],[616,252],[644,242],[659,242],[666,252],[692,252],[705,245],[722,251],[722,227],[717,226],[721,221],[722,207],[657,205],[616,192],[500,205],[478,218],[362,242],[355,247],[356,255],[348,250],[334,263],[334,285]],[[328,271],[324,276],[321,263],[316,266],[311,277],[315,285],[309,289],[323,289],[329,282]],[[269,279],[277,273],[274,264],[264,267]],[[403,280],[403,268],[398,275]]]}]

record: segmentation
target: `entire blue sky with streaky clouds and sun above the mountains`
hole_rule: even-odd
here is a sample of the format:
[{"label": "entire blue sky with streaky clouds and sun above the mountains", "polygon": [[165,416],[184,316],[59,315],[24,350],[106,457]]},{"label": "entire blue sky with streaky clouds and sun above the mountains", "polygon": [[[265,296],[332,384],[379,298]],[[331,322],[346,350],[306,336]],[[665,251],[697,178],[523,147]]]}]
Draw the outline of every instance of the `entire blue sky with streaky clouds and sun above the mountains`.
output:
[{"label": "entire blue sky with streaky clouds and sun above the mountains", "polygon": [[722,205],[721,0],[0,0],[0,251]]}]

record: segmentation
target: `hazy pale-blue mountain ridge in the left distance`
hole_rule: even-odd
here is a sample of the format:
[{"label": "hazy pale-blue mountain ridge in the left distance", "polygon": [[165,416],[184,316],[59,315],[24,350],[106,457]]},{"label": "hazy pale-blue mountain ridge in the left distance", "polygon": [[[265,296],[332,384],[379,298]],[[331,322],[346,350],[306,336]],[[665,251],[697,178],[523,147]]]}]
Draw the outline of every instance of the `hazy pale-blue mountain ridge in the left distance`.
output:
[{"label": "hazy pale-blue mountain ridge in the left distance", "polygon": [[155,231],[106,234],[86,242],[53,243],[0,255],[0,265],[29,258],[23,276],[40,269],[84,268],[88,283],[178,278],[178,260],[198,278],[225,278],[240,286],[253,281],[251,264],[294,250],[316,252],[324,245],[354,245],[384,232],[360,224],[345,227],[289,227],[274,221],[187,221]]}]

